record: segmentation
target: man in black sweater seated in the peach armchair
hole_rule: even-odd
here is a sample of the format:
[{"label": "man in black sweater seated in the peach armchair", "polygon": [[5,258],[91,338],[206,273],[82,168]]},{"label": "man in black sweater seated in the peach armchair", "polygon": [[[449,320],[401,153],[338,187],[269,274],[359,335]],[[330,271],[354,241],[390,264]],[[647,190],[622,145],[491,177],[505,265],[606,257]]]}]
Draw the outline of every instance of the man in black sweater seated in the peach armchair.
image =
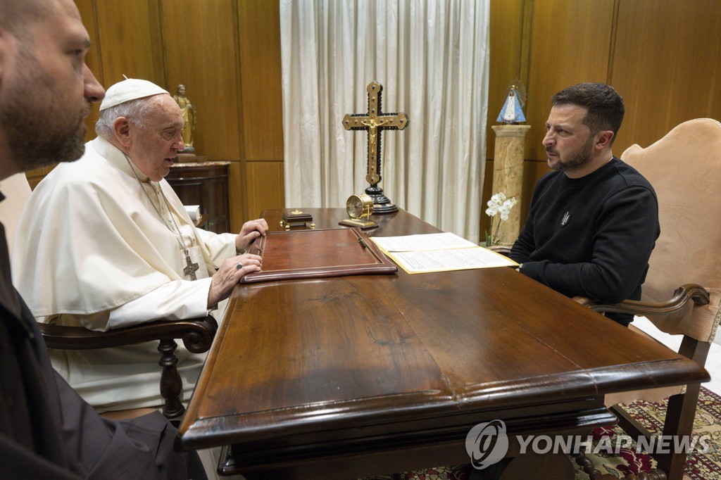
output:
[{"label": "man in black sweater seated in the peach armchair", "polygon": [[[554,172],[539,179],[510,257],[528,277],[567,296],[641,298],[660,233],[650,183],[611,152],[624,103],[611,86],[555,94],[544,147]],[[633,317],[609,314],[628,325]]]}]

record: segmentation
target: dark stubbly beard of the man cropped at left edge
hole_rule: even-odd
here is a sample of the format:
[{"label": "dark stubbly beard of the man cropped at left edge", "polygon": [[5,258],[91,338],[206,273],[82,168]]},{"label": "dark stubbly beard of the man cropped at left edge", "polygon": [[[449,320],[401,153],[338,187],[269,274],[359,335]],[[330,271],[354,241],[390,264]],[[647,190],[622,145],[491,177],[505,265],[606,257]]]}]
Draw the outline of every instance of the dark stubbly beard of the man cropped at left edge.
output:
[{"label": "dark stubbly beard of the man cropped at left edge", "polygon": [[63,86],[43,75],[43,66],[27,49],[20,48],[24,67],[19,79],[3,85],[0,128],[12,156],[22,171],[58,161],[74,161],[85,151],[84,110],[63,111]]}]

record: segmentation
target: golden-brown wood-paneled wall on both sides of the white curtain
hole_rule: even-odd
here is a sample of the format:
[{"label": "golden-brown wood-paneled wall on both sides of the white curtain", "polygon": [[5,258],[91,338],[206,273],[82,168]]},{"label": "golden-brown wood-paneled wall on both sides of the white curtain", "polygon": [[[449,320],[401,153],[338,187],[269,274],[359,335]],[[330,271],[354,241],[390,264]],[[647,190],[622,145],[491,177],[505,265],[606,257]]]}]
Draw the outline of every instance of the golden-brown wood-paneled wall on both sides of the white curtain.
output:
[{"label": "golden-brown wood-paneled wall on both sides of the white curtain", "polygon": [[[198,111],[198,154],[231,161],[231,228],[262,208],[283,206],[277,0],[76,4],[94,44],[87,62],[102,84],[123,74],[171,93],[185,84]],[[541,140],[549,99],[559,89],[603,81],[619,90],[627,113],[616,155],[632,143],[653,143],[684,120],[721,118],[719,12],[721,0],[491,0],[483,202],[492,194],[490,125],[513,79],[526,84],[531,125],[522,218],[536,180],[548,171]],[[485,229],[486,215],[479,222]]]}]

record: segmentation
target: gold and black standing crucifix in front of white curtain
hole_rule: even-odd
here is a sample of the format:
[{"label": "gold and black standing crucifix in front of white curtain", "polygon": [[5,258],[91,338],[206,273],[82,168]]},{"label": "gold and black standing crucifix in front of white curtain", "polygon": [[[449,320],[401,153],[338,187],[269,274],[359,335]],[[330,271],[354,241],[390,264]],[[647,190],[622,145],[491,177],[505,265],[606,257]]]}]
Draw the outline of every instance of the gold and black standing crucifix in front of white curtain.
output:
[{"label": "gold and black standing crucifix in front of white curtain", "polygon": [[378,186],[381,181],[381,133],[383,130],[403,130],[409,123],[404,112],[382,113],[381,92],[383,86],[371,81],[368,90],[368,113],[354,113],[345,115],[343,126],[345,130],[366,130],[368,132],[368,174],[366,180],[371,184],[366,188],[366,194],[373,199],[373,213],[392,213],[398,207],[383,195],[383,189]]}]

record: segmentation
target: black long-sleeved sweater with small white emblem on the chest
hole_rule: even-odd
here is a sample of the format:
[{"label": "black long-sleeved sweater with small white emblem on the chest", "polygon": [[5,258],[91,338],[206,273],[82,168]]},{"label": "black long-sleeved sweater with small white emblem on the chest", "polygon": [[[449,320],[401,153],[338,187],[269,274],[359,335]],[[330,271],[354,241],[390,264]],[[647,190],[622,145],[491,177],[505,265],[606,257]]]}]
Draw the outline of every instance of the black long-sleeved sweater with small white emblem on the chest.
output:
[{"label": "black long-sleeved sweater with small white emblem on the chest", "polygon": [[564,295],[638,300],[659,233],[653,187],[614,157],[578,179],[563,172],[541,177],[510,257],[525,275]]}]

